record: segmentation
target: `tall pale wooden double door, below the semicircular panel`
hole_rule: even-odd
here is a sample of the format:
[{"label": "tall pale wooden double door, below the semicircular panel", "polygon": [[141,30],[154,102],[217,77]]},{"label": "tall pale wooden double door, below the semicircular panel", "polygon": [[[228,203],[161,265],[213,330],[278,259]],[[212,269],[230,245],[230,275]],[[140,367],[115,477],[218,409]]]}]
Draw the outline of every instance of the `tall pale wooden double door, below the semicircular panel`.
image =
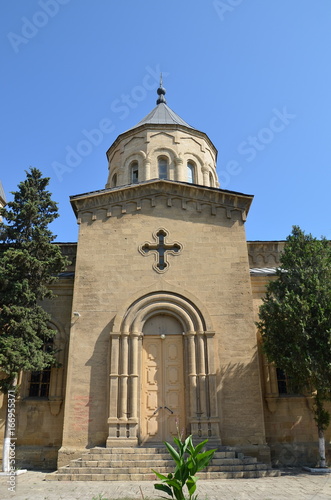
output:
[{"label": "tall pale wooden double door, below the semicircular panel", "polygon": [[145,336],[142,356],[141,443],[171,441],[185,427],[183,338]]}]

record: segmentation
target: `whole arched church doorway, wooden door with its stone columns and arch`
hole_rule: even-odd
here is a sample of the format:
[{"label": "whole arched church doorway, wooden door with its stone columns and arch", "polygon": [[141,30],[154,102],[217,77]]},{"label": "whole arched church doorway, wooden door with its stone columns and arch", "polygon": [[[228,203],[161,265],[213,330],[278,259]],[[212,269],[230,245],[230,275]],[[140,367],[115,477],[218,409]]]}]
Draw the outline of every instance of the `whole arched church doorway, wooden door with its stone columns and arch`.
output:
[{"label": "whole arched church doorway, wooden door with its stone columns and arch", "polygon": [[118,312],[110,333],[107,446],[162,442],[177,434],[176,420],[186,434],[220,443],[215,332],[202,307],[163,290]]}]

